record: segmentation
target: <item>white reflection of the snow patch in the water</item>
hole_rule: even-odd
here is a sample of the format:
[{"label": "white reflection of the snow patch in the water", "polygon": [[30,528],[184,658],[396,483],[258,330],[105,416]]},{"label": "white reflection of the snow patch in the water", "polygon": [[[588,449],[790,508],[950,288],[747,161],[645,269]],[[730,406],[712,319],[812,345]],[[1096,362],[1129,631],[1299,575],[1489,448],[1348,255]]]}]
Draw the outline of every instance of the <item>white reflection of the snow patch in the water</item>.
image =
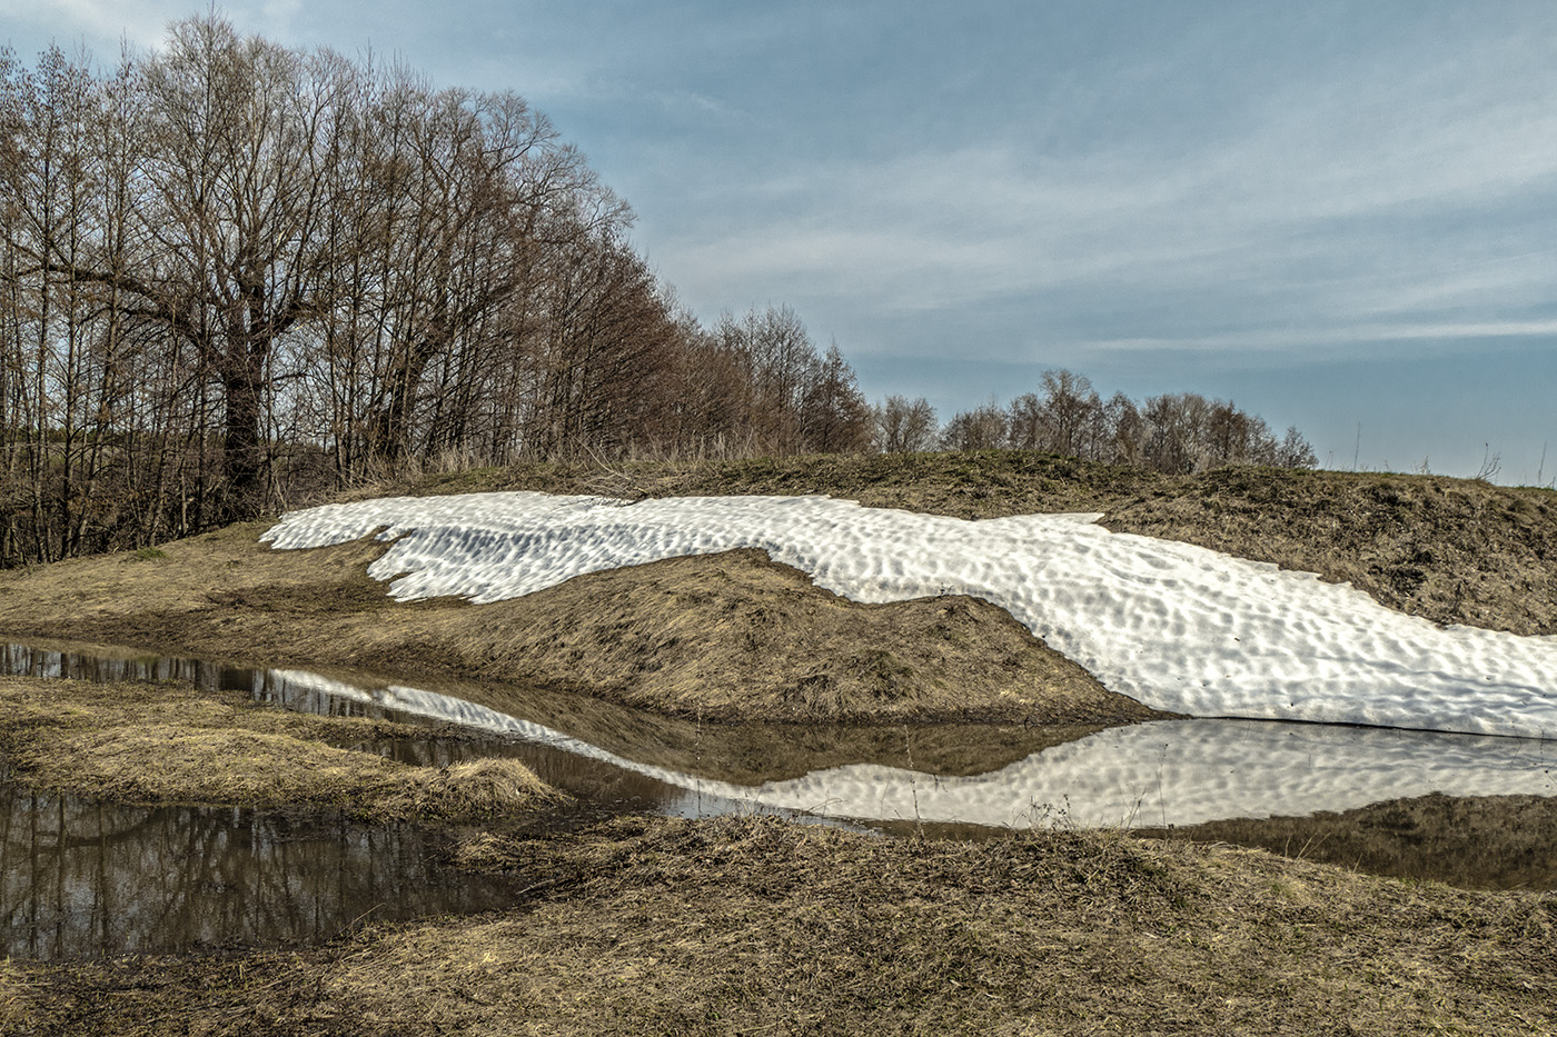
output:
[{"label": "white reflection of the snow patch in the water", "polygon": [[297,671],[272,676],[296,688],[603,760],[710,797],[702,803],[708,813],[746,803],[859,821],[1193,825],[1224,817],[1342,811],[1428,793],[1557,794],[1552,743],[1211,719],[1115,727],[975,777],[933,777],[861,763],[746,786],[635,763],[550,727],[433,691],[403,687],[366,691]]}]

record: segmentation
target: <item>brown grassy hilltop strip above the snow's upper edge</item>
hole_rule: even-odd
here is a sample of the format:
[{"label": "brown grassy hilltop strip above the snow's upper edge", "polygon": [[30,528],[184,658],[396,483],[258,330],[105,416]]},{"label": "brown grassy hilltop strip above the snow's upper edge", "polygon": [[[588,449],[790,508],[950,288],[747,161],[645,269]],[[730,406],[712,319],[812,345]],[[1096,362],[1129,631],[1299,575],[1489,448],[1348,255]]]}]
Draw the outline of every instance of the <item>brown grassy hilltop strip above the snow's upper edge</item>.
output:
[{"label": "brown grassy hilltop strip above the snow's upper edge", "polygon": [[1169,476],[1051,455],[758,458],[528,464],[371,494],[529,489],[626,498],[830,494],[961,518],[1104,512],[1116,533],[1183,540],[1348,581],[1434,623],[1557,634],[1557,492],[1437,475],[1228,467]]}]

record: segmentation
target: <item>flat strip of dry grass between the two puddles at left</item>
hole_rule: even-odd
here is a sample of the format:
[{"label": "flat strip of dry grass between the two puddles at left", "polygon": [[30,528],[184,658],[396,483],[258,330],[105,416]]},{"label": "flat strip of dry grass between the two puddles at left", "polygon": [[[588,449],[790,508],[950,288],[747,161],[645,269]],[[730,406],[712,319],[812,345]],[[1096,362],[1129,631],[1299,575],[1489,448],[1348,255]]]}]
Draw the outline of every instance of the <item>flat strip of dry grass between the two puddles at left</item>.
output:
[{"label": "flat strip of dry grass between the two puddles at left", "polygon": [[327,741],[413,729],[216,699],[176,684],[0,677],[14,780],[131,803],[333,808],[371,819],[520,814],[562,799],[515,761],[413,768]]}]

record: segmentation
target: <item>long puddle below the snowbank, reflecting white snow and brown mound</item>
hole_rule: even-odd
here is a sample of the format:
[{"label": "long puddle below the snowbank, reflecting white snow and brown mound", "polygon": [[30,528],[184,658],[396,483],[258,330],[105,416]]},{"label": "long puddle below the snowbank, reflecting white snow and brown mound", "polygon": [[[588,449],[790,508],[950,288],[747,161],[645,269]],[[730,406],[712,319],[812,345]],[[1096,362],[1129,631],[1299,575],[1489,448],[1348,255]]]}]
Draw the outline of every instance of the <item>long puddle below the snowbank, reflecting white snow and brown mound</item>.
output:
[{"label": "long puddle below the snowbank, reflecting white snow and brown mound", "polygon": [[[472,682],[433,690],[350,673],[16,645],[0,651],[0,668],[93,680],[177,677],[293,710],[458,726],[476,736],[374,747],[438,765],[508,755],[584,800],[679,816],[757,810],[968,838],[1043,825],[1260,825],[1436,793],[1557,797],[1557,743],[1531,738],[1228,719],[1059,735],[968,726],[702,727],[582,696]],[[1292,842],[1269,830],[1216,838],[1271,849]],[[1400,839],[1420,842],[1420,833]],[[1518,852],[1545,855],[1521,881],[1557,888],[1557,853]]]}]

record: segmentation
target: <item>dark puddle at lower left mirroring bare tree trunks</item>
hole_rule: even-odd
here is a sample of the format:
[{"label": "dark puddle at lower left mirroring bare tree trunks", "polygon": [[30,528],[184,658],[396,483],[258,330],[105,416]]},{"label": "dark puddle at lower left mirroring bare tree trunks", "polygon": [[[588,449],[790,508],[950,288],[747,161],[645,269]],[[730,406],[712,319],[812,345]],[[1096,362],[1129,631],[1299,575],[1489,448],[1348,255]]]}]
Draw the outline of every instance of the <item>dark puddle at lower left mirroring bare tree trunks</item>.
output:
[{"label": "dark puddle at lower left mirroring bare tree trunks", "polygon": [[0,954],[89,958],[330,939],[509,903],[409,825],[123,807],[0,786]]}]

